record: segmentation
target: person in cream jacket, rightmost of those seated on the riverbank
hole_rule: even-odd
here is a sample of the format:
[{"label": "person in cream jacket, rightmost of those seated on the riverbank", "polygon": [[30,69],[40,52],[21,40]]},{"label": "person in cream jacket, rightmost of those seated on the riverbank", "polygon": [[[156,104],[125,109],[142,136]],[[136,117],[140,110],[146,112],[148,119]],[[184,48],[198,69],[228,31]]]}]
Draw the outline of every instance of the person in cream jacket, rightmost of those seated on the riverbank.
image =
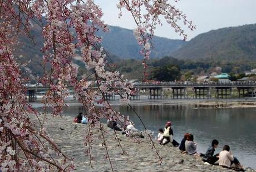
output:
[{"label": "person in cream jacket, rightmost of those seated on the riverbank", "polygon": [[220,151],[219,154],[219,166],[224,168],[230,168],[231,165],[234,163],[235,166],[239,168],[240,171],[244,171],[243,166],[239,163],[238,159],[235,158],[231,151],[229,145],[224,145],[223,150]]}]

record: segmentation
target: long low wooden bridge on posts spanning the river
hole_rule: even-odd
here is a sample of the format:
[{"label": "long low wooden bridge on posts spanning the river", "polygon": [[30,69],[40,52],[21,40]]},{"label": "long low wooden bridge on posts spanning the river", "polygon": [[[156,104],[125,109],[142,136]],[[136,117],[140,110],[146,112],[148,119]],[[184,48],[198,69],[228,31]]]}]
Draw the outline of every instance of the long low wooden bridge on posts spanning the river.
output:
[{"label": "long low wooden bridge on posts spanning the river", "polygon": [[[240,97],[254,97],[256,92],[255,83],[204,83],[204,84],[183,84],[183,83],[137,83],[134,84],[134,89],[136,89],[136,95],[131,95],[132,99],[140,98],[140,90],[149,90],[148,98],[149,99],[184,99],[189,98],[188,92],[195,99],[205,99],[213,98],[212,94],[215,95],[215,98],[232,98],[232,92],[235,89],[238,93],[237,98]],[[93,86],[92,86],[93,87]],[[93,88],[97,88],[94,86]],[[71,89],[71,87],[70,87]],[[42,90],[48,90],[46,87],[28,87],[27,94],[28,100],[34,102],[36,100],[36,93]],[[106,98],[111,99],[113,95],[108,95],[106,93]]]}]

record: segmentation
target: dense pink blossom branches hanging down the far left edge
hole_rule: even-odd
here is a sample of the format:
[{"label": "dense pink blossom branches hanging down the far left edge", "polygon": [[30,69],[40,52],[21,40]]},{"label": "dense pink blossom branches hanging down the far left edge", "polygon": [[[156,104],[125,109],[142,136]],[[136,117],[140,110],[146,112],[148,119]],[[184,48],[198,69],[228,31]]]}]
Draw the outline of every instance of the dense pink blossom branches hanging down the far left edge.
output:
[{"label": "dense pink blossom branches hanging down the far left edge", "polygon": [[29,119],[30,115],[39,114],[27,103],[21,70],[12,55],[19,34],[31,37],[29,27],[36,16],[30,8],[33,4],[36,3],[7,0],[0,6],[0,169],[70,171],[70,159],[57,148],[42,125],[38,129]]}]

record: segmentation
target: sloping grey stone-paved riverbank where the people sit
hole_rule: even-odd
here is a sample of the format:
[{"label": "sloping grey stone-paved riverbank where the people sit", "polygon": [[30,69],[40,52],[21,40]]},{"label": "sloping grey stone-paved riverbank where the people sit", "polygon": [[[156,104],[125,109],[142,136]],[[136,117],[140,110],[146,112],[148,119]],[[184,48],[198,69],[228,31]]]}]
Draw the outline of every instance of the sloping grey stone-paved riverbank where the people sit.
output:
[{"label": "sloping grey stone-paved riverbank where the people sit", "polygon": [[[111,171],[109,160],[105,158],[106,151],[102,146],[102,137],[98,139],[99,130],[92,129],[92,169],[89,166],[90,159],[85,154],[87,146],[84,145],[88,124],[74,124],[73,118],[67,116],[50,117],[48,115],[47,118],[45,128],[63,153],[74,158],[75,171]],[[36,119],[32,118],[32,120],[38,124]],[[114,171],[233,171],[219,166],[205,165],[201,158],[181,154],[178,148],[172,146],[161,146],[155,143],[156,149],[163,158],[163,163],[160,165],[155,150],[151,150],[149,138],[140,139],[141,143],[138,144],[134,139],[117,133],[122,148],[127,152],[123,154],[115,139],[114,131],[106,127],[105,129],[106,145]],[[250,168],[245,169],[255,171]]]}]

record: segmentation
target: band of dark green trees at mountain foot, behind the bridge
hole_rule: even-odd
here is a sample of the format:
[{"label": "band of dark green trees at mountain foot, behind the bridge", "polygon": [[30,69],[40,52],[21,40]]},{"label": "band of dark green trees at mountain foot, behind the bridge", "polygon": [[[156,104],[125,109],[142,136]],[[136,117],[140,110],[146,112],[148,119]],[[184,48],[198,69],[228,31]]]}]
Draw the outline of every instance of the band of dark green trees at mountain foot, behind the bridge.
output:
[{"label": "band of dark green trees at mountain foot, behind the bridge", "polygon": [[[142,79],[141,60],[120,60],[116,68],[129,79]],[[150,59],[147,63],[148,77],[160,81],[191,80],[200,75],[228,73],[230,80],[245,77],[245,71],[256,68],[256,60],[214,60],[214,59],[176,59],[164,57]]]}]

